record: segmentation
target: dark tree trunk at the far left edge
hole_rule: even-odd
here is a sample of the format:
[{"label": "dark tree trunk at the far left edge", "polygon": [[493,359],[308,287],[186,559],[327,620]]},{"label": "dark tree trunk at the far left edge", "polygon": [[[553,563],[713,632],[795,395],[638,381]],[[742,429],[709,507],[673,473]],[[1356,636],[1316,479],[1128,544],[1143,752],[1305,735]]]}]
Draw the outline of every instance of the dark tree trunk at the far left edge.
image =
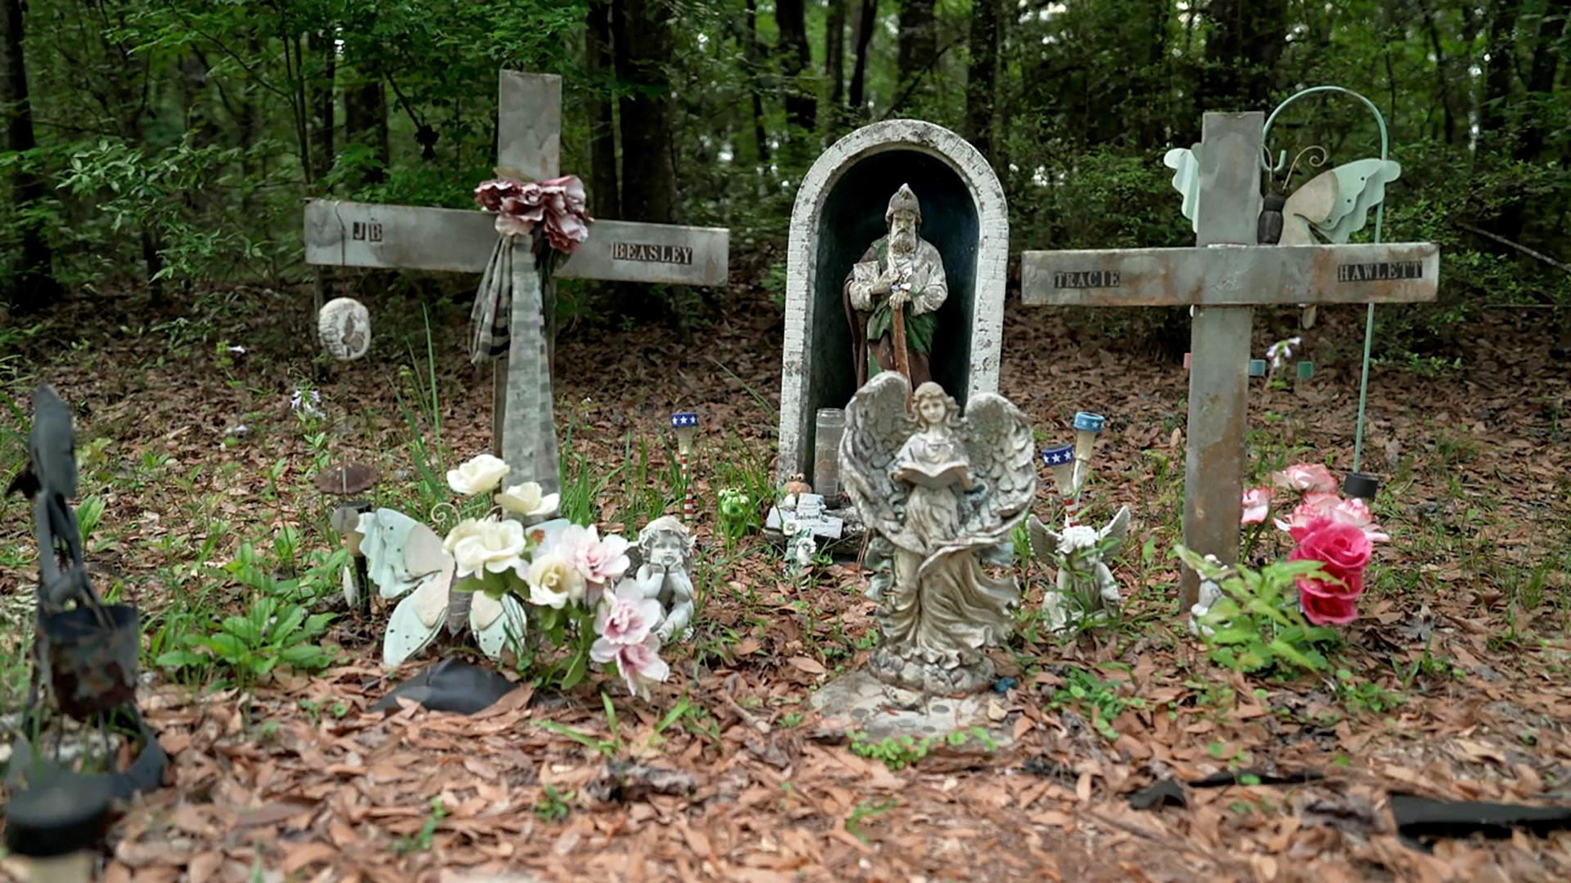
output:
[{"label": "dark tree trunk at the far left edge", "polygon": [[[5,123],[8,151],[30,151],[33,138],[33,105],[27,93],[27,64],[22,57],[22,0],[5,0],[0,16],[0,121]],[[11,176],[11,200],[16,206],[19,261],[13,264],[8,300],[17,313],[36,313],[52,306],[60,295],[53,277],[53,255],[44,239],[42,225],[27,220],[27,209],[39,204],[47,190],[44,182],[19,163]]]}]

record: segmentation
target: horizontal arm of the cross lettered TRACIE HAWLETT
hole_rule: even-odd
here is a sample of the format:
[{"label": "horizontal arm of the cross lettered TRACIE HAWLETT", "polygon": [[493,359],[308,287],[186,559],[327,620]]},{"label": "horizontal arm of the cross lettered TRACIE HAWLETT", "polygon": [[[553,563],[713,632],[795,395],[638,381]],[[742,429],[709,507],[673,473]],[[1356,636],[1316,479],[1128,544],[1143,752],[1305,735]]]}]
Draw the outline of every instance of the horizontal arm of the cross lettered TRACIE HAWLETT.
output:
[{"label": "horizontal arm of the cross lettered TRACIE HAWLETT", "polygon": [[1434,300],[1433,242],[1376,245],[1214,245],[1024,251],[1031,306],[1247,306]]}]

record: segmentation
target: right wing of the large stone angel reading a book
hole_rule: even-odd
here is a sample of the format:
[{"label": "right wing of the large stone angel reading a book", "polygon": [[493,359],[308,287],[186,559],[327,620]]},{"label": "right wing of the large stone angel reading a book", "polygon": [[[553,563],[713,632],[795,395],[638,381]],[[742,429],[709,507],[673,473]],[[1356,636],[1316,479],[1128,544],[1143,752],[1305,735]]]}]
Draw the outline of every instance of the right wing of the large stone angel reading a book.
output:
[{"label": "right wing of the large stone angel reading a book", "polygon": [[987,503],[971,512],[960,533],[971,540],[1002,542],[1031,514],[1037,498],[1037,445],[1026,415],[1004,396],[971,396],[966,454],[988,493]]}]

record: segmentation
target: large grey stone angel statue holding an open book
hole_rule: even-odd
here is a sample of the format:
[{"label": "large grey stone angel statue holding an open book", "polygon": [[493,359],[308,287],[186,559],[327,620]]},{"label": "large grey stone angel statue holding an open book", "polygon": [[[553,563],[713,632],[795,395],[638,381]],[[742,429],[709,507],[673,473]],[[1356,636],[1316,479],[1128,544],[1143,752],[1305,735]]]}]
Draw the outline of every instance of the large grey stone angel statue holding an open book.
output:
[{"label": "large grey stone angel statue holding an open book", "polygon": [[1020,586],[1013,575],[990,575],[983,558],[1029,514],[1034,456],[1031,426],[1002,396],[972,396],[961,416],[938,383],[910,394],[897,372],[858,390],[845,412],[840,476],[875,534],[867,550],[883,636],[869,661],[875,677],[935,694],[993,682],[985,650],[1009,636]]}]

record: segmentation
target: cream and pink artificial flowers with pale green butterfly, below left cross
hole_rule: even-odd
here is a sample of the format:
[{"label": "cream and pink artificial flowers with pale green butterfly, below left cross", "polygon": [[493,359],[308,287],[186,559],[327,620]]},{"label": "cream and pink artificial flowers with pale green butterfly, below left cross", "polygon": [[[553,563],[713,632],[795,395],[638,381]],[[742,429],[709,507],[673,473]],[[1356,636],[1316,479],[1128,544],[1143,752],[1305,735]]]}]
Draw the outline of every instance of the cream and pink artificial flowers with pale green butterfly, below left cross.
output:
[{"label": "cream and pink artificial flowers with pale green butterfly, below left cross", "polygon": [[408,591],[388,617],[383,661],[413,657],[443,624],[462,632],[467,617],[481,650],[496,660],[511,649],[518,660],[540,661],[531,638],[566,649],[547,672],[562,690],[595,661],[614,665],[628,690],[647,698],[649,685],[671,672],[655,635],[665,611],[627,577],[628,540],[555,518],[559,496],[533,481],[504,487],[509,471],[490,454],[449,470],[456,493],[492,504],[467,506],[476,514],[440,540],[388,509],[361,515],[372,581],[388,599]]}]

